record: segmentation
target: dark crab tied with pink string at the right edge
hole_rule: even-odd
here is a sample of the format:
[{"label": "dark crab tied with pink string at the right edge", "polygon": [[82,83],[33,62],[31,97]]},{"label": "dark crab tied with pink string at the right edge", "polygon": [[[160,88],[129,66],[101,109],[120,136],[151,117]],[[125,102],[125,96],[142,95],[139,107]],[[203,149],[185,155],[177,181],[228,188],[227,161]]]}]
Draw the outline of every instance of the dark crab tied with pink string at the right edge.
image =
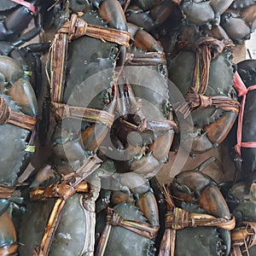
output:
[{"label": "dark crab tied with pink string at the right edge", "polygon": [[244,176],[256,170],[255,114],[253,111],[256,96],[256,60],[241,61],[237,64],[234,87],[238,96],[241,96],[235,149]]}]

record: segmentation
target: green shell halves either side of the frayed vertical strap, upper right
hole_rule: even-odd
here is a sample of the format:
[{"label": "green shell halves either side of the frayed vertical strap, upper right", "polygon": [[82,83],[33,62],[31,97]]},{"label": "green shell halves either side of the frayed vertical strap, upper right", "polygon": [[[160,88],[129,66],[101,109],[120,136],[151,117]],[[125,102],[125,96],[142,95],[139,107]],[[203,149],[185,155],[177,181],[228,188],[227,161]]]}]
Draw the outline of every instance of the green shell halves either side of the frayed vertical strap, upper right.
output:
[{"label": "green shell halves either side of the frayed vertical strap, upper right", "polygon": [[[192,85],[195,65],[195,53],[180,51],[168,66],[169,79],[185,96]],[[233,67],[231,55],[224,51],[217,59],[211,61],[209,81],[205,96],[233,96]],[[175,109],[174,109],[175,110]],[[218,119],[224,111],[220,108],[203,108],[193,112],[192,119],[196,127],[209,125]]]}]

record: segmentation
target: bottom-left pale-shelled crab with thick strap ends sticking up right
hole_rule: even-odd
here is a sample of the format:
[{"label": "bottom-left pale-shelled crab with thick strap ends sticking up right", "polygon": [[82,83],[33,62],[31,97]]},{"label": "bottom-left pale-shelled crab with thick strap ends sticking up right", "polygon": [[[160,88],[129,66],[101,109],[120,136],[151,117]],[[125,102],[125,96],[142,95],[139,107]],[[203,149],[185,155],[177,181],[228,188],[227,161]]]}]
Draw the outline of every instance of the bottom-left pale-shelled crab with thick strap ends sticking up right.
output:
[{"label": "bottom-left pale-shelled crab with thick strap ends sticking up right", "polygon": [[100,185],[95,185],[96,175],[94,185],[84,178],[100,164],[101,160],[90,157],[76,172],[62,177],[50,166],[42,170],[52,175],[31,185],[30,201],[20,225],[20,255],[93,255],[95,201]]}]

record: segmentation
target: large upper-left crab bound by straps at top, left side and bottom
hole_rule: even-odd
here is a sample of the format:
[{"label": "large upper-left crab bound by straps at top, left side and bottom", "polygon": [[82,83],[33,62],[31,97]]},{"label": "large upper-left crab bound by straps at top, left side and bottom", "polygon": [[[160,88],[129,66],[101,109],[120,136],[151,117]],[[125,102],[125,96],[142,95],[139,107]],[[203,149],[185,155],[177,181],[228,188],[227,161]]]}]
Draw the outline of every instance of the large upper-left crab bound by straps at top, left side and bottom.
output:
[{"label": "large upper-left crab bound by straps at top, left side and bottom", "polygon": [[[76,12],[90,5],[70,1],[69,8]],[[96,150],[113,124],[116,80],[129,42],[126,29],[119,3],[107,0],[98,11],[73,14],[55,37],[49,84],[57,121],[54,151],[63,160],[83,159],[84,150]]]}]

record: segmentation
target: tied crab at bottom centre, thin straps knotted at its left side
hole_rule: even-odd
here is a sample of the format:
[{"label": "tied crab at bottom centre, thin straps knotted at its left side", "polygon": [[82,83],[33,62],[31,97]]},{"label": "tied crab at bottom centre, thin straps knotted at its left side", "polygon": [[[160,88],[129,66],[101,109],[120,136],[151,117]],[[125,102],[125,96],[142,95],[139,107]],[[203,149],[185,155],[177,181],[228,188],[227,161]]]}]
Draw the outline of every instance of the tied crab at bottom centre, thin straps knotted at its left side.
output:
[{"label": "tied crab at bottom centre, thin straps knotted at its left side", "polygon": [[148,181],[129,172],[109,182],[112,190],[102,189],[97,201],[96,255],[153,256],[159,212]]}]

